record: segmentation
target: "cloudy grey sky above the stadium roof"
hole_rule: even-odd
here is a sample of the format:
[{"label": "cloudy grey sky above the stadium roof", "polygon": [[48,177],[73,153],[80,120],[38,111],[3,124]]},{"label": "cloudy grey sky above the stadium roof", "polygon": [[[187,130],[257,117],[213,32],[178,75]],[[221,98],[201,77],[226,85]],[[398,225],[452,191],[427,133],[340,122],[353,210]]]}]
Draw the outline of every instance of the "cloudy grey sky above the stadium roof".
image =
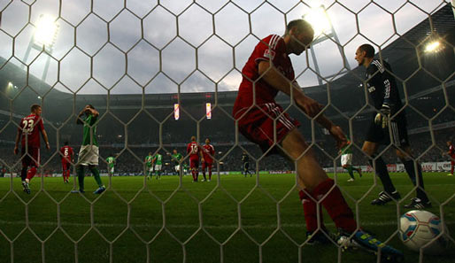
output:
[{"label": "cloudy grey sky above the stadium roof", "polygon": [[[7,2],[0,1],[3,10],[0,56],[11,58],[14,55],[10,63],[19,65],[18,59],[25,58],[35,27],[27,24],[30,10],[27,4]],[[114,94],[142,93],[142,87],[145,87],[145,93],[174,93],[178,91],[178,84],[181,84],[181,92],[214,91],[215,82],[219,83],[220,91],[235,90],[241,80],[239,72],[258,38],[270,34],[282,35],[286,20],[299,19],[308,12],[306,4],[328,7],[328,16],[349,65],[355,67],[354,52],[359,44],[370,42],[384,48],[427,19],[425,12],[436,12],[447,0],[376,0],[375,4],[368,4],[369,0],[344,0],[335,4],[333,0],[192,2],[162,0],[161,6],[156,6],[157,1],[128,0],[129,11],[120,12],[124,0],[93,0],[94,13],[90,13],[89,0],[62,0],[61,6],[58,0],[36,1],[30,14],[33,24],[41,14],[58,17],[59,9],[63,18],[57,19],[59,30],[52,50],[55,59],[50,60],[45,81],[50,85],[56,83],[55,88],[59,90],[79,90],[85,94],[105,94],[106,89],[112,89]],[[209,12],[216,14],[212,17]],[[359,12],[359,28],[353,12]],[[395,13],[396,29],[388,12]],[[172,13],[180,14],[178,19]],[[177,21],[180,37],[175,37]],[[252,35],[249,35],[250,30]],[[216,36],[212,35],[213,31]],[[155,47],[141,40],[141,35]],[[12,36],[15,36],[14,54]],[[106,43],[108,37],[111,43]],[[191,45],[198,47],[197,51]],[[325,41],[312,48],[322,75],[342,70],[343,59],[334,42]],[[158,50],[162,50],[161,59]],[[41,78],[46,58],[45,54],[40,55],[39,51],[32,49],[25,61],[27,64],[33,61],[30,73]],[[307,69],[307,61],[314,68],[309,52],[299,57],[291,56],[291,59],[301,86],[318,84],[316,74]],[[91,66],[96,81],[90,79]],[[160,66],[162,72],[159,72]],[[195,71],[196,67],[200,72]]]}]

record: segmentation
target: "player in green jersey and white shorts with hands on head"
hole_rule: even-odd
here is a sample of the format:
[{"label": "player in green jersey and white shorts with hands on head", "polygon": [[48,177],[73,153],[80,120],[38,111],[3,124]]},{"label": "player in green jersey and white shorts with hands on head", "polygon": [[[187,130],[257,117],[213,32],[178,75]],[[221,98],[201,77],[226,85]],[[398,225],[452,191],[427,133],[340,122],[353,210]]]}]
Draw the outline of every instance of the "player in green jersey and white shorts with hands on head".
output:
[{"label": "player in green jersey and white shorts with hands on head", "polygon": [[90,172],[95,178],[98,189],[94,194],[101,194],[106,190],[98,171],[98,156],[99,148],[96,141],[96,120],[98,120],[99,112],[96,111],[93,105],[86,105],[77,116],[76,123],[84,126],[81,151],[79,151],[79,159],[77,161],[76,172],[79,181],[79,190],[73,192],[84,193],[84,177],[85,167],[89,166]]}]

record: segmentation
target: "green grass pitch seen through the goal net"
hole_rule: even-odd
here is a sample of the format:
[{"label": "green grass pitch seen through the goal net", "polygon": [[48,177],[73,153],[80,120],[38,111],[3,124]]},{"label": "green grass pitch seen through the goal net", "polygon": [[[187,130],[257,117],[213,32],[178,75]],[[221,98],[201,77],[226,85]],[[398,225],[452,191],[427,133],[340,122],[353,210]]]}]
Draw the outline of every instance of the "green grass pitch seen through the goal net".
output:
[{"label": "green grass pitch seen through the goal net", "polygon": [[[391,175],[405,197],[412,190],[407,175]],[[221,175],[220,184],[217,178],[192,183],[191,176],[181,181],[177,176],[150,181],[104,177],[109,189],[101,196],[92,194],[92,177],[85,179],[83,196],[71,194],[73,183],[64,184],[62,178],[35,178],[30,196],[19,178],[0,178],[0,262],[337,262],[338,257],[376,262],[374,255],[341,253],[335,245],[299,249],[305,243],[305,219],[294,174]],[[403,205],[414,193],[400,205],[373,206],[370,201],[381,187],[372,187],[372,174],[355,182],[346,182],[348,174],[336,178],[361,226],[382,241],[390,237],[389,244],[405,252],[405,262],[418,262],[419,254],[407,250],[396,235],[397,217],[406,212]],[[431,173],[425,180],[433,202],[428,211],[439,215],[443,209],[447,226],[455,231],[455,200],[440,206],[453,197],[455,178]],[[12,246],[5,236],[14,241]],[[454,257],[451,244],[443,255],[423,256],[422,262],[453,262]]]}]

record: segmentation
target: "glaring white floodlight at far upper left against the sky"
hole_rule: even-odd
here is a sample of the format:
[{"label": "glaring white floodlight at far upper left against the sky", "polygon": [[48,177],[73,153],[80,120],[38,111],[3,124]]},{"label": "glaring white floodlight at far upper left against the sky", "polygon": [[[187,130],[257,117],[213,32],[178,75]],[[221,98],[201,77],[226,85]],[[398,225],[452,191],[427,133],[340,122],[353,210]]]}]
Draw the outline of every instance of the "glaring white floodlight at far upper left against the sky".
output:
[{"label": "glaring white floodlight at far upper left against the sky", "polygon": [[58,35],[58,25],[55,19],[49,15],[40,15],[36,22],[34,40],[37,45],[51,47]]}]

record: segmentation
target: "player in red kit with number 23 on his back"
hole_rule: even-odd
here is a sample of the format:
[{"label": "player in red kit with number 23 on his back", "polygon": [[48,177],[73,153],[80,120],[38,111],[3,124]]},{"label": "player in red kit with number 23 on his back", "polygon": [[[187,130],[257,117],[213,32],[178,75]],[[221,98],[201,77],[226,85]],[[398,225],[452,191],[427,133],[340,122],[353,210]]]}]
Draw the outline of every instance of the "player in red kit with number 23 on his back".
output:
[{"label": "player in red kit with number 23 on his back", "polygon": [[27,194],[30,194],[28,183],[35,176],[36,169],[40,166],[40,133],[44,143],[46,143],[46,149],[50,149],[48,135],[42,124],[41,113],[42,108],[40,105],[33,104],[31,106],[30,115],[20,120],[14,146],[14,154],[18,154],[20,141],[22,146],[22,171],[20,172],[20,178]]}]

